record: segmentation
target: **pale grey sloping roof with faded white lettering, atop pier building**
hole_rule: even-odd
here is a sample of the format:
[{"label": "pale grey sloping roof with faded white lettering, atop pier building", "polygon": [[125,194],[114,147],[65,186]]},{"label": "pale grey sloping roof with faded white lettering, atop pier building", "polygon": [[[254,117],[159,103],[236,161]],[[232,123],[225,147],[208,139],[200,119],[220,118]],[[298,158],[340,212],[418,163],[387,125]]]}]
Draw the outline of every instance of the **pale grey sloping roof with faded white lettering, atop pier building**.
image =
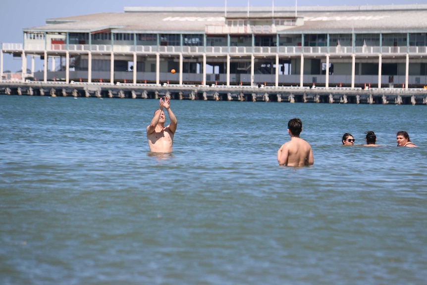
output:
[{"label": "pale grey sloping roof with faded white lettering, atop pier building", "polygon": [[427,4],[313,7],[124,7],[124,12],[48,19],[25,32],[204,33],[225,19],[304,18],[279,33],[427,32]]}]

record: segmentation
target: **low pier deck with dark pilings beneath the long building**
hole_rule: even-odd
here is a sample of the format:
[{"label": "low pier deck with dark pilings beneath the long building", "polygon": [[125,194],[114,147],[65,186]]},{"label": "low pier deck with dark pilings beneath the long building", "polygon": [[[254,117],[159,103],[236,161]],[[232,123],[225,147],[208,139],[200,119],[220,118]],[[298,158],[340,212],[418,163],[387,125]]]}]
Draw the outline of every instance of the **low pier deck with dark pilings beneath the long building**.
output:
[{"label": "low pier deck with dark pilings beneath the long building", "polygon": [[177,100],[311,102],[350,104],[427,104],[426,88],[348,88],[296,86],[224,86],[133,83],[0,82],[6,95],[73,96]]}]

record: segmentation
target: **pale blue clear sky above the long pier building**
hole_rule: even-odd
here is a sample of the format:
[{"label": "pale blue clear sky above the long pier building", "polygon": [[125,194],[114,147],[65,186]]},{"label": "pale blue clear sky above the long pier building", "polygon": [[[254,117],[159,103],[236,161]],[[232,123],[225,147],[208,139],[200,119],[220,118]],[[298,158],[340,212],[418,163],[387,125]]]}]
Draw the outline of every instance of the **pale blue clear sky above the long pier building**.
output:
[{"label": "pale blue clear sky above the long pier building", "polygon": [[[427,4],[427,0],[2,0],[0,3],[0,43],[23,43],[24,28],[43,26],[46,19],[102,12],[123,12],[125,6],[333,6]],[[356,4],[355,4],[356,2]],[[21,60],[3,55],[3,71],[21,69]]]}]

